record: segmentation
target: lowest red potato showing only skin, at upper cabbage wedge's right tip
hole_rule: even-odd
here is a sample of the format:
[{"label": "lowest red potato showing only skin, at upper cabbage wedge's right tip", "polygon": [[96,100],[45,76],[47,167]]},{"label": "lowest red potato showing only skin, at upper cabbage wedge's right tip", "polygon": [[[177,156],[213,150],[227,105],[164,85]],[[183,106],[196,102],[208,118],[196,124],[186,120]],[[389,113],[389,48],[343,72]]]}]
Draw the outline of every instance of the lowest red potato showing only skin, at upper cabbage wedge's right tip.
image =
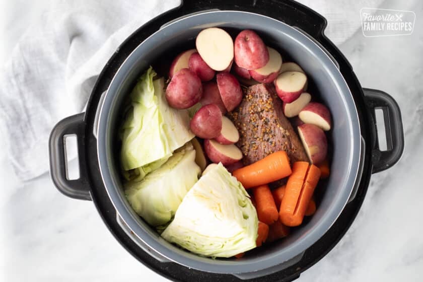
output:
[{"label": "lowest red potato showing only skin, at upper cabbage wedge's right tip", "polygon": [[189,127],[195,136],[215,138],[222,131],[222,112],[215,104],[202,106],[191,118]]}]

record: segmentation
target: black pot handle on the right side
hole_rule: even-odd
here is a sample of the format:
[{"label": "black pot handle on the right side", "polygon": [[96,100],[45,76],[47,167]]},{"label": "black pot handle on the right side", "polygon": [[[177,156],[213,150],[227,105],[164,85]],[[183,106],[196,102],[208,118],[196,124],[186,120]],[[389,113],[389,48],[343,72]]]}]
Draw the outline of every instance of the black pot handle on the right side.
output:
[{"label": "black pot handle on the right side", "polygon": [[[404,152],[404,131],[401,110],[395,100],[387,93],[363,88],[366,105],[373,117],[375,145],[372,150],[372,173],[380,172],[395,165]],[[382,109],[385,121],[386,151],[379,149],[375,109]]]}]

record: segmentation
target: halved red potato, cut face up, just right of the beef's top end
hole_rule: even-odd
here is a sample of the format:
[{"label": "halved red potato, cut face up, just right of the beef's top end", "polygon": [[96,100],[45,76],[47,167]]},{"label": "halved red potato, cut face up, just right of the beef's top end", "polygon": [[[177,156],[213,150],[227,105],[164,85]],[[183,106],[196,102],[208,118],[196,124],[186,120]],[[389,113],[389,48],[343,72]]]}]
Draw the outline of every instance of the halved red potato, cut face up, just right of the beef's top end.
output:
[{"label": "halved red potato, cut face up, just right of the beef's top end", "polygon": [[300,72],[281,73],[274,81],[276,93],[285,103],[294,102],[301,93],[307,83],[307,77]]}]

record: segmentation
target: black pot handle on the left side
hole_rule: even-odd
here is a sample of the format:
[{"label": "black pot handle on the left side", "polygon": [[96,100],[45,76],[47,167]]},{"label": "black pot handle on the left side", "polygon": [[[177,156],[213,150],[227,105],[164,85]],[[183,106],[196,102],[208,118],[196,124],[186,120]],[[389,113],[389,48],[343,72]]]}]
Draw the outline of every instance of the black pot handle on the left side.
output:
[{"label": "black pot handle on the left side", "polygon": [[[85,163],[85,113],[66,117],[53,128],[49,140],[50,176],[54,185],[64,195],[81,200],[91,200],[90,185],[87,178]],[[78,179],[69,180],[67,177],[66,136],[77,136],[79,172]]]}]

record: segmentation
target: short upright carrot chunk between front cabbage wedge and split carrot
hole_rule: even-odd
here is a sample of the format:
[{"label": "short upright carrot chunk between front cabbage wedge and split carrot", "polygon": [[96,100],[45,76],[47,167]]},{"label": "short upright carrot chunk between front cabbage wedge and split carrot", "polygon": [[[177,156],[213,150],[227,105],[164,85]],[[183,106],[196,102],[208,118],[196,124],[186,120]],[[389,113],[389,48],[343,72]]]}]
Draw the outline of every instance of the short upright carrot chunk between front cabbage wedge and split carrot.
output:
[{"label": "short upright carrot chunk between front cabbage wedge and split carrot", "polygon": [[253,194],[257,205],[258,220],[265,224],[272,224],[275,222],[279,215],[269,186],[258,186],[253,189]]}]

